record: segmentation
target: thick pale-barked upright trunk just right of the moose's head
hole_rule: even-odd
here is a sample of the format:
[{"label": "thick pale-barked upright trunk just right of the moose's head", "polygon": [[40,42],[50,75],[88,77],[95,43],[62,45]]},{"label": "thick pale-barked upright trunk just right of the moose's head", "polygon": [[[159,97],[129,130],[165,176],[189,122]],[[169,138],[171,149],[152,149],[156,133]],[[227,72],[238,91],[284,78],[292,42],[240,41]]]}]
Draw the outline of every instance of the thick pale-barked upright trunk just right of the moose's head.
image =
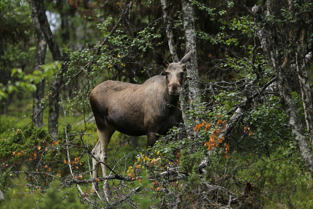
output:
[{"label": "thick pale-barked upright trunk just right of the moose's head", "polygon": [[185,29],[185,50],[192,50],[192,56],[189,61],[189,69],[187,69],[187,78],[189,79],[190,99],[195,100],[199,91],[199,71],[197,61],[196,32],[194,23],[194,12],[192,5],[188,0],[182,0],[182,15]]}]

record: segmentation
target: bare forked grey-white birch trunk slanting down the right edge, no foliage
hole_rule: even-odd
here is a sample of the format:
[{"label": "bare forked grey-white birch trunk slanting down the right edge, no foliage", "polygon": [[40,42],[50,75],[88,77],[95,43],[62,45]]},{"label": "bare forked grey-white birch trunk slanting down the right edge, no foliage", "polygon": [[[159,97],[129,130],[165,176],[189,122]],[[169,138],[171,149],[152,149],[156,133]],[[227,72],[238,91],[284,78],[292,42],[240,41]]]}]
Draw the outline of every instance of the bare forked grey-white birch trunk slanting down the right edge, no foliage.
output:
[{"label": "bare forked grey-white birch trunk slanting down the right edge, no foliage", "polygon": [[[242,3],[240,1],[240,3]],[[265,13],[268,15],[272,14],[272,2],[270,0],[265,1],[265,7],[266,11]],[[291,8],[292,9],[292,8]],[[250,14],[254,15],[251,11],[249,11]],[[257,15],[254,15],[254,17],[257,18],[256,21],[259,21],[261,19],[258,19],[259,17]],[[261,20],[262,21],[262,20]],[[289,25],[291,28],[291,32],[289,33],[289,37],[287,37],[289,41],[292,41],[291,37],[293,37],[292,32],[295,30],[301,30],[300,33],[304,34],[303,29],[299,29],[299,25]],[[301,123],[301,118],[298,112],[298,109],[296,107],[295,101],[292,97],[288,78],[287,78],[287,72],[290,67],[290,57],[291,54],[285,53],[284,55],[281,55],[281,48],[278,46],[277,40],[279,40],[279,37],[277,37],[277,33],[275,31],[275,25],[271,24],[264,24],[262,29],[259,29],[256,34],[259,37],[259,40],[261,42],[261,48],[263,49],[265,56],[267,57],[267,60],[269,61],[269,64],[273,67],[275,70],[275,77],[277,82],[277,87],[280,91],[280,101],[283,104],[284,110],[287,113],[287,116],[289,118],[289,125],[293,132],[295,142],[297,143],[298,150],[300,152],[300,155],[304,162],[308,165],[308,170],[311,174],[313,174],[313,154],[312,151],[309,149],[309,144],[305,138],[304,134],[304,127]],[[303,39],[301,38],[302,35],[299,36],[299,41],[296,43],[297,45],[297,57],[296,57],[296,69],[298,72],[298,78],[300,80],[300,88],[301,93],[303,97],[303,105],[306,107],[306,111],[308,114],[312,114],[310,112],[310,108],[312,107],[312,100],[310,98],[312,97],[311,91],[308,90],[307,85],[307,75],[305,68],[305,56],[304,52],[301,50],[303,47],[301,47],[301,41]],[[303,44],[303,42],[302,42]],[[306,117],[306,115],[305,115]],[[306,118],[307,123],[311,123],[308,118]],[[312,124],[309,124],[312,125]],[[309,126],[308,126],[309,128]]]}]

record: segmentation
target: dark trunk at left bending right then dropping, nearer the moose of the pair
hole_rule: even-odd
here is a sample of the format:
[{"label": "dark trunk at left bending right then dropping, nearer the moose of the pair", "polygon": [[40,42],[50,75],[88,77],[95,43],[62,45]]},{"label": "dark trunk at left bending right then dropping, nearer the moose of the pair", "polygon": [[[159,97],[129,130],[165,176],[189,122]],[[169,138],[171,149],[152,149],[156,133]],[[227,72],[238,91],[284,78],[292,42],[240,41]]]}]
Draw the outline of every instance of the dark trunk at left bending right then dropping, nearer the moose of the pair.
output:
[{"label": "dark trunk at left bending right then dropping, nearer the moose of the pair", "polygon": [[[42,31],[44,32],[44,37],[49,45],[49,49],[52,53],[53,60],[63,61],[64,58],[61,55],[58,44],[56,43],[54,36],[51,32],[48,19],[46,16],[46,9],[44,7],[43,0],[32,0],[32,3],[35,5],[38,12],[38,19]],[[66,71],[66,66],[62,65],[61,73]],[[50,105],[49,105],[49,119],[48,119],[48,128],[50,130],[50,136],[56,140],[58,135],[58,119],[59,119],[59,89],[62,84],[62,76],[56,75],[54,81],[50,86]]]}]

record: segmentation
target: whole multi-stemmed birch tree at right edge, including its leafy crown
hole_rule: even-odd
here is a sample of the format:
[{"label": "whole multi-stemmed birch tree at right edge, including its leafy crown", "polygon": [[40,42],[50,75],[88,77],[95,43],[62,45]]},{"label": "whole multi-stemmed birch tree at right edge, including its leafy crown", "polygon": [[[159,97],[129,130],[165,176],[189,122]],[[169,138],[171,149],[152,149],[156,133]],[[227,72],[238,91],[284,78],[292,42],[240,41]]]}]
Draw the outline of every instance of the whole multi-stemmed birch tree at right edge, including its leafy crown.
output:
[{"label": "whole multi-stemmed birch tree at right edge, including its leafy crown", "polygon": [[[261,6],[255,6],[252,10],[240,0],[238,3],[255,18],[257,23],[255,35],[259,38],[267,61],[275,70],[280,101],[288,115],[289,125],[301,157],[313,174],[312,150],[305,137],[304,127],[290,89],[292,83],[300,84],[306,129],[312,144],[313,100],[306,69],[312,62],[312,3],[289,1],[288,4],[282,3],[278,6],[271,1],[263,1]],[[290,70],[298,75],[298,79],[291,83],[288,78]]]}]

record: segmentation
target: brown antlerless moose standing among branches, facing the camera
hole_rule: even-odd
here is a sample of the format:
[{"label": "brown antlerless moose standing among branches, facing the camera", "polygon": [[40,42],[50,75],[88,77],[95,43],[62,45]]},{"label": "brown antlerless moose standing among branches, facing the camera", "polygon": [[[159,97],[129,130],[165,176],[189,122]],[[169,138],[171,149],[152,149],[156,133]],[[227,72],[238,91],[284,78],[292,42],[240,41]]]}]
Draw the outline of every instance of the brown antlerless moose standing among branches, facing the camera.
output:
[{"label": "brown antlerless moose standing among branches, facing the camera", "polygon": [[[154,76],[143,84],[105,81],[90,93],[90,106],[95,116],[99,141],[92,153],[107,163],[107,150],[115,131],[129,136],[146,135],[147,148],[152,147],[160,135],[181,122],[179,93],[184,77],[184,66],[192,50],[178,63],[169,64],[162,54],[154,52],[157,65],[165,76]],[[156,134],[157,135],[156,135]],[[93,178],[98,177],[99,163],[93,159]],[[106,167],[101,164],[103,176]]]}]

